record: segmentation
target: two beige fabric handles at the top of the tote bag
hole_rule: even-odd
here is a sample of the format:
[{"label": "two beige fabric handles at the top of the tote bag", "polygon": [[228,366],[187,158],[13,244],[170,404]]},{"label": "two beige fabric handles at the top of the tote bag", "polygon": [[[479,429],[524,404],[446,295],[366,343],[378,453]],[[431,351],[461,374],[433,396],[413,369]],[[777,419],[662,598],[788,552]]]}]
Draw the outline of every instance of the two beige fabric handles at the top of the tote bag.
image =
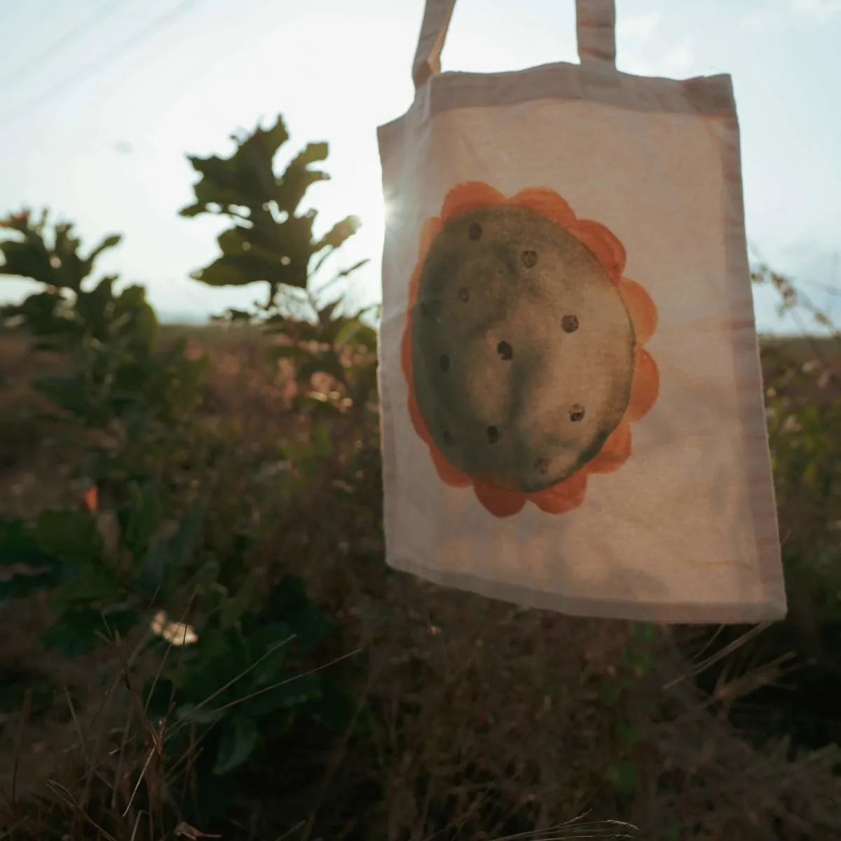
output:
[{"label": "two beige fabric handles at the top of the tote bag", "polygon": [[[412,77],[420,87],[441,72],[441,51],[456,0],[426,0]],[[575,0],[575,32],[581,64],[616,67],[615,0]]]}]

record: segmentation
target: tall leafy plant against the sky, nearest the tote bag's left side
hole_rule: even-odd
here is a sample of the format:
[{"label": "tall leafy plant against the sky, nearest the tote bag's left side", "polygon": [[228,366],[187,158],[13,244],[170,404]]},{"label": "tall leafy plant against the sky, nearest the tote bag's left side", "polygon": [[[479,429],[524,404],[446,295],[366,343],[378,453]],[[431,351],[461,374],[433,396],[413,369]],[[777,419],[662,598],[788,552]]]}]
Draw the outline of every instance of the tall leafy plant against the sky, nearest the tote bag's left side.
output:
[{"label": "tall leafy plant against the sky, nearest the tote bag's left side", "polygon": [[[312,168],[327,157],[326,143],[310,143],[280,176],[274,160],[288,141],[283,117],[270,129],[233,135],[236,149],[227,158],[191,156],[200,178],[196,201],[182,216],[215,214],[233,223],[219,236],[222,256],[194,278],[211,286],[265,283],[267,299],[255,309],[229,309],[218,320],[229,325],[259,324],[278,338],[267,350],[274,365],[288,360],[299,385],[297,408],[316,420],[350,415],[357,431],[370,441],[366,414],[376,412],[377,333],[366,309],[348,309],[347,295],[325,301],[325,292],[368,263],[362,260],[335,272],[319,288],[328,259],[359,229],[349,216],[315,237],[315,210],[301,210],[309,187],[329,176]],[[331,381],[311,389],[313,378]]]}]

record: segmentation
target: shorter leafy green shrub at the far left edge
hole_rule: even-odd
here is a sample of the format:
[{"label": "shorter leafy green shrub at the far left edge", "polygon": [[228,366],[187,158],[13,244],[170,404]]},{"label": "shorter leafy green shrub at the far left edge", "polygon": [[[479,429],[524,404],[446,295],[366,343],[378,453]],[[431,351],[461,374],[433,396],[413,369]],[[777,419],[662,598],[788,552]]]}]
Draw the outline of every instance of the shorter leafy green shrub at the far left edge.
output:
[{"label": "shorter leafy green shrub at the far left edge", "polygon": [[87,476],[125,480],[143,473],[152,451],[189,423],[208,360],[189,358],[183,341],[161,348],[144,288],[117,291],[116,275],[86,283],[119,235],[82,257],[72,226],[56,224],[48,235],[47,221],[46,211],[37,222],[24,211],[3,224],[0,275],[30,278],[41,289],[0,308],[0,325],[32,336],[32,352],[61,360],[56,373],[32,386],[56,417],[100,433],[88,451]]}]

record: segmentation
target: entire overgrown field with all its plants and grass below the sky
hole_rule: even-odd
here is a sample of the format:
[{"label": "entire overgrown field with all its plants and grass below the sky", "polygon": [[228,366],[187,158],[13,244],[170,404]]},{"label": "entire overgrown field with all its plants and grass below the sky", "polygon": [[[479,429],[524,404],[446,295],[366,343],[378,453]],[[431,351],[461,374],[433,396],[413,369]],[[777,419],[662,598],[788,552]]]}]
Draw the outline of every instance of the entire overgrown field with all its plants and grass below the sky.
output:
[{"label": "entire overgrown field with all its plants and grass below the sky", "polygon": [[322,271],[359,220],[314,234],[327,145],[287,141],[189,159],[180,214],[230,223],[194,279],[265,293],[207,327],[97,277],[119,235],[0,220],[38,286],[0,307],[0,841],[841,838],[837,339],[763,342],[785,621],[441,590],[384,563],[362,263]]}]

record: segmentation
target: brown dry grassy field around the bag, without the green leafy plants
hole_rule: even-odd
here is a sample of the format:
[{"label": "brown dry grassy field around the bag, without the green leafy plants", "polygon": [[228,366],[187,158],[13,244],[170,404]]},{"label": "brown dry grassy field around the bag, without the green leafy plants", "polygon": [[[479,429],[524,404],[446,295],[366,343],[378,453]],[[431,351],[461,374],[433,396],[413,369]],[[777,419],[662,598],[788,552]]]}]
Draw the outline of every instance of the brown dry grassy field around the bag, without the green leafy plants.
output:
[{"label": "brown dry grassy field around the bag, without the green leafy plants", "polygon": [[[167,742],[142,690],[161,657],[192,668],[201,606],[176,600],[170,617],[198,629],[192,646],[144,648],[150,602],[145,624],[70,656],[41,644],[56,621],[48,592],[0,601],[0,838],[841,838],[831,345],[764,343],[792,611],[725,632],[573,619],[389,573],[375,403],[352,420],[320,415],[256,331],[167,327],[159,341],[179,336],[209,369],[158,480],[173,499],[206,500],[199,566],[230,566],[243,599],[283,575],[304,582],[332,632],[294,674],[335,681],[341,715],[301,706],[253,738],[237,724],[231,749],[246,743],[247,761],[204,773],[204,731]],[[65,363],[26,351],[23,336],[0,337],[8,519],[83,508],[83,452],[102,435],[40,416],[29,383]],[[99,484],[103,534],[119,507],[109,493]],[[182,515],[165,513],[172,531]]]}]

